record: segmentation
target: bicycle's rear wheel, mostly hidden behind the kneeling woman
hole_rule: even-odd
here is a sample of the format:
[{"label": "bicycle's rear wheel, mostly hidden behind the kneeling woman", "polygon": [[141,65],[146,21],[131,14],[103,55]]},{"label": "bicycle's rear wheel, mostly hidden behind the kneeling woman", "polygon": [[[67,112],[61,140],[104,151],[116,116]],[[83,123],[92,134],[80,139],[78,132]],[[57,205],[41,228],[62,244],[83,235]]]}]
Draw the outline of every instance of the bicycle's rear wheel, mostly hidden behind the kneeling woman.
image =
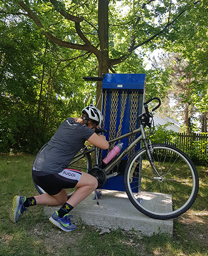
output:
[{"label": "bicycle's rear wheel, mostly hidden behind the kneeling woman", "polygon": [[[78,152],[77,155],[79,155],[79,153],[80,152]],[[89,170],[92,168],[90,153],[83,153],[78,158],[77,158],[77,155],[73,158],[73,160],[71,161],[71,163],[68,165],[67,168],[82,170],[82,172],[88,173]],[[33,181],[33,183],[34,183],[34,186],[36,187],[36,190],[38,191],[38,193],[40,195],[45,193],[45,191],[42,189],[42,187],[38,186],[34,181]]]}]

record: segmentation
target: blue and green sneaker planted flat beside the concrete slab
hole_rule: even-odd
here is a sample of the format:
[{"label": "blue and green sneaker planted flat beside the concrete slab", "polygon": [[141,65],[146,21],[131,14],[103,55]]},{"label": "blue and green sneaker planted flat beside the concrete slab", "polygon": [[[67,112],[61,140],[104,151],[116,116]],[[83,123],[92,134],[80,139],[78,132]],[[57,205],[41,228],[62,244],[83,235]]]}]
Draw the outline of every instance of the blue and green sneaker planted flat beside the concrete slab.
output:
[{"label": "blue and green sneaker planted flat beside the concrete slab", "polygon": [[49,220],[63,231],[69,232],[76,229],[76,225],[71,223],[71,217],[72,215],[66,214],[63,218],[60,218],[59,214],[55,212]]}]

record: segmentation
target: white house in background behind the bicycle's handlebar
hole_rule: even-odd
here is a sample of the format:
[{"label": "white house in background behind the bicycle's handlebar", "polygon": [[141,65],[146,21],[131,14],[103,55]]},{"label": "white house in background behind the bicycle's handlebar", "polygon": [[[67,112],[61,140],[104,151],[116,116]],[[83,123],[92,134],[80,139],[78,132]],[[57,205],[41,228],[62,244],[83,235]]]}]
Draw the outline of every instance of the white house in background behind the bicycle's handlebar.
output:
[{"label": "white house in background behind the bicycle's handlebar", "polygon": [[160,115],[156,112],[154,112],[154,125],[157,126],[157,124],[160,124],[163,126],[166,123],[170,123],[169,126],[167,126],[167,130],[174,130],[174,132],[181,133],[181,125],[176,120],[170,117],[160,117]]}]

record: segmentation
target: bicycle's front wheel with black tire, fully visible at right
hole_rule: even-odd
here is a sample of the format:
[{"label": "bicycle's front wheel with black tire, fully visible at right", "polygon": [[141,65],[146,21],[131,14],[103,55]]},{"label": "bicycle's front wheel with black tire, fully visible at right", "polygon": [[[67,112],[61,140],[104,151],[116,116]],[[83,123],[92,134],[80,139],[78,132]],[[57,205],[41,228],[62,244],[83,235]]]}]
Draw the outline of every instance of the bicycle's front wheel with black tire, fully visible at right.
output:
[{"label": "bicycle's front wheel with black tire, fully visible at right", "polygon": [[126,194],[138,211],[155,219],[171,219],[192,206],[199,189],[197,170],[176,147],[153,144],[153,164],[145,148],[131,157],[124,174]]}]

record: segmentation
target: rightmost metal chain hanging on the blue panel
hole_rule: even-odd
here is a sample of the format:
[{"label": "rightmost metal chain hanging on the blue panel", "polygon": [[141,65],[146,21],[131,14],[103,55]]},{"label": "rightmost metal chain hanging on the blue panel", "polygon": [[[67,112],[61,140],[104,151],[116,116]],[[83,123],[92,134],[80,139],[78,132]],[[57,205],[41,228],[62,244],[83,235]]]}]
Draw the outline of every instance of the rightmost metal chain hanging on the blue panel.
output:
[{"label": "rightmost metal chain hanging on the blue panel", "polygon": [[[132,132],[136,129],[136,121],[137,121],[137,110],[138,103],[140,99],[140,94],[138,90],[132,90],[131,93],[131,110],[130,110],[130,126],[129,132]],[[129,137],[129,145],[136,139],[136,134]],[[135,147],[129,152],[128,160],[130,160],[131,156],[135,153]]]}]

